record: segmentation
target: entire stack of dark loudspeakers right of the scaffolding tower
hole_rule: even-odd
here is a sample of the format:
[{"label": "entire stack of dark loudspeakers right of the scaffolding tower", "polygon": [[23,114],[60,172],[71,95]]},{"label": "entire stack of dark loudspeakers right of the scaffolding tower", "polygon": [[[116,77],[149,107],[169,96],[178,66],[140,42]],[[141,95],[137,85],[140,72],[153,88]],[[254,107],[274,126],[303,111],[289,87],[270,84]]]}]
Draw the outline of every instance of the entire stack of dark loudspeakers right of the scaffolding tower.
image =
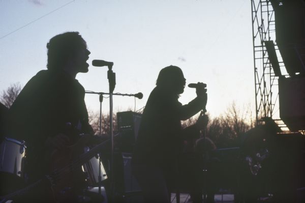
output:
[{"label": "entire stack of dark loudspeakers right of the scaffolding tower", "polygon": [[279,76],[280,118],[291,131],[305,129],[305,2],[270,0],[275,11],[276,41],[289,78],[282,77],[273,41],[264,41]]}]

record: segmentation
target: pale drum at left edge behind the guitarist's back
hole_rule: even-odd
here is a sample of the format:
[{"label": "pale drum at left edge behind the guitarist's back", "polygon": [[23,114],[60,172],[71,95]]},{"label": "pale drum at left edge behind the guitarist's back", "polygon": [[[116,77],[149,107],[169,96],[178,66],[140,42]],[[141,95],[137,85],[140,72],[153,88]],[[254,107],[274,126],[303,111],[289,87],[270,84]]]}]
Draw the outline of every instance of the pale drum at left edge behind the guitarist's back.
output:
[{"label": "pale drum at left edge behind the guitarist's back", "polygon": [[25,148],[24,141],[5,137],[0,144],[0,172],[23,178]]}]

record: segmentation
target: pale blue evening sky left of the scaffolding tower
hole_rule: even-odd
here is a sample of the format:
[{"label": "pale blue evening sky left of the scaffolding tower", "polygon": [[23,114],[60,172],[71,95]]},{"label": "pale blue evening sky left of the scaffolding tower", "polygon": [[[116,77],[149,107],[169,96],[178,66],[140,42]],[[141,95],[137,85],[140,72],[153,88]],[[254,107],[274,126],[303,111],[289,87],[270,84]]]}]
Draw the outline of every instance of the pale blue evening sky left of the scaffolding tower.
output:
[{"label": "pale blue evening sky left of the scaffolding tower", "polygon": [[[87,41],[89,64],[114,62],[114,92],[143,93],[136,109],[145,105],[159,71],[176,65],[187,83],[207,83],[212,116],[233,100],[239,106],[251,103],[255,112],[249,0],[0,0],[0,91],[15,82],[24,85],[46,69],[46,43],[67,31],[78,31]],[[77,79],[86,90],[108,92],[106,68],[90,66]],[[179,101],[185,104],[195,96],[186,88]],[[85,101],[89,109],[99,109],[98,96],[86,95]],[[114,96],[113,101],[114,111],[134,109],[131,97]],[[103,111],[109,111],[108,99]]]}]

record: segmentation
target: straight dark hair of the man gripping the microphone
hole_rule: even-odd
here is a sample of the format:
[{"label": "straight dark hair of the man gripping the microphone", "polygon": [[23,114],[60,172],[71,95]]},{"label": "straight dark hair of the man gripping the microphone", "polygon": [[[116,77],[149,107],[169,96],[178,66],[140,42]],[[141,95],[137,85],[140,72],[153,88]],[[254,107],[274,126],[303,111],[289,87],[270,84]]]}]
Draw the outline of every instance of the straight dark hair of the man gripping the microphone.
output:
[{"label": "straight dark hair of the man gripping the microphone", "polygon": [[182,70],[177,66],[167,66],[163,69],[161,69],[156,85],[157,86],[165,86],[169,82],[171,82],[174,78],[176,78],[177,75],[181,75]]}]

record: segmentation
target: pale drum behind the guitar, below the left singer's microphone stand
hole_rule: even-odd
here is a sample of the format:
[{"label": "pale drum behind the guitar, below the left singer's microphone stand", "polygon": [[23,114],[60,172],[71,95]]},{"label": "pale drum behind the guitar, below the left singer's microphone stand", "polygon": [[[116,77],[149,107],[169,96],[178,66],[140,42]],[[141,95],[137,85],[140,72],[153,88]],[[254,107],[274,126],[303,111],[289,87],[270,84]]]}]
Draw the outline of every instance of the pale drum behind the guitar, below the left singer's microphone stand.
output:
[{"label": "pale drum behind the guitar, below the left singer's microphone stand", "polygon": [[[88,147],[84,148],[85,153],[89,150],[90,149]],[[88,183],[88,186],[97,186],[99,184],[99,175],[101,175],[101,181],[107,179],[106,171],[102,162],[100,162],[99,160],[99,155],[94,156],[93,158],[89,159],[89,161],[87,161],[85,164],[83,164],[82,170],[87,173],[86,182]]]}]

